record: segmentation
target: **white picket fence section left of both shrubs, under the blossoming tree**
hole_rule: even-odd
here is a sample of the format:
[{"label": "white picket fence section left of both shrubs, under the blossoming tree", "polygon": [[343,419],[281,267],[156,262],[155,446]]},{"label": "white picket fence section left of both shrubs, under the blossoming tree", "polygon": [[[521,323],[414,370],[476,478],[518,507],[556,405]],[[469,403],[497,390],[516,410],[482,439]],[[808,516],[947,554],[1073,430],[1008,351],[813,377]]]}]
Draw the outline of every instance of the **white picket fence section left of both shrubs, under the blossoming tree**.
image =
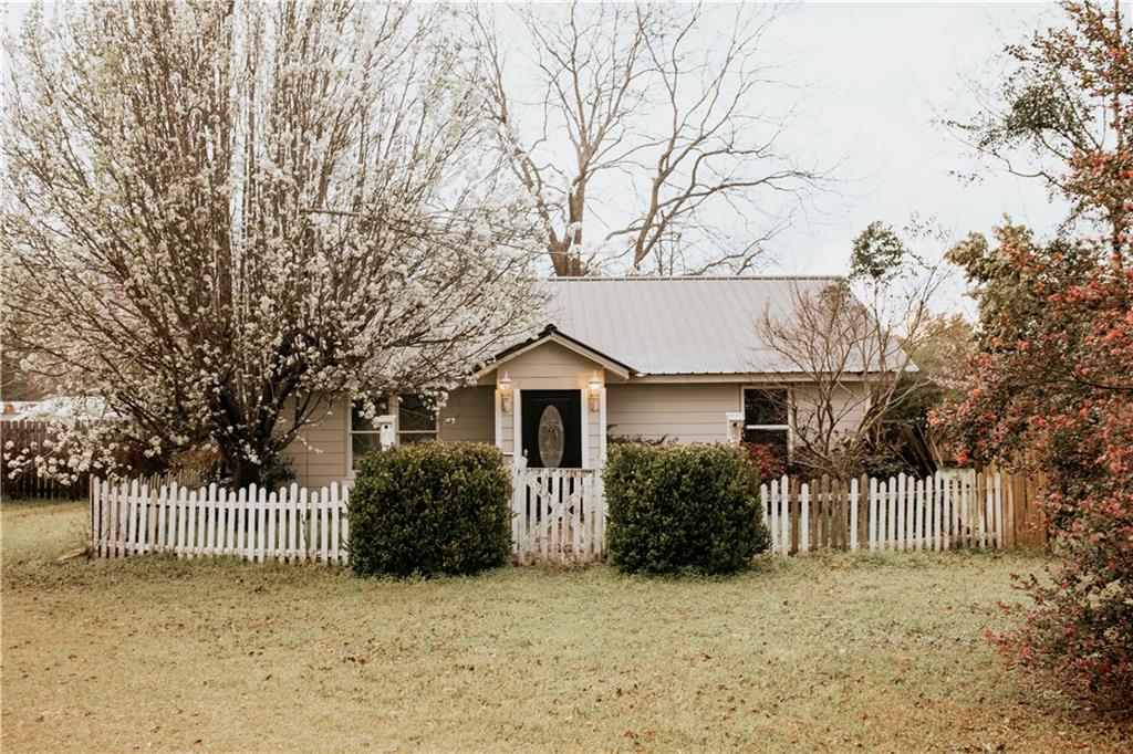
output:
[{"label": "white picket fence section left of both shrubs, under the blossoming tree", "polygon": [[138,480],[91,480],[92,542],[100,557],[172,552],[246,560],[347,563],[350,490],[297,485],[269,491],[215,485],[155,490]]}]

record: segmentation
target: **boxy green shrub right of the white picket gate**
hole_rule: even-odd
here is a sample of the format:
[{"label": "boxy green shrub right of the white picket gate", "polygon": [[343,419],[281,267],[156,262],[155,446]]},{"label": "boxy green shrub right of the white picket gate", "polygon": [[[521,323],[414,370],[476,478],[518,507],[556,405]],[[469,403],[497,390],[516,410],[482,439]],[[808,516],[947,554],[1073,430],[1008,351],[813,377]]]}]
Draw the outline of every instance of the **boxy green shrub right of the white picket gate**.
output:
[{"label": "boxy green shrub right of the white picket gate", "polygon": [[616,445],[603,479],[606,543],[622,571],[730,573],[770,546],[759,475],[742,448]]}]

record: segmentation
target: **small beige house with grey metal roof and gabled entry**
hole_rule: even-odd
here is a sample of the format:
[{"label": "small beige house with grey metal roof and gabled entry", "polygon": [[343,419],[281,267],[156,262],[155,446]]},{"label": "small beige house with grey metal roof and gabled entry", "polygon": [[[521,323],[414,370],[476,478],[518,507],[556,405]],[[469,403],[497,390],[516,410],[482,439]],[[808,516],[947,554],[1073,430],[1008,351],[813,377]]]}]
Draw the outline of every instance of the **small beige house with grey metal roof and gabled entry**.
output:
[{"label": "small beige house with grey metal roof and gabled entry", "polygon": [[[470,375],[435,414],[415,396],[391,401],[395,443],[497,445],[529,466],[598,469],[610,442],[744,439],[784,451],[789,405],[807,378],[760,343],[765,311],[790,317],[792,291],[835,277],[581,277],[545,282],[544,327]],[[851,421],[852,417],[843,418]],[[288,449],[300,485],[349,478],[382,430],[348,400]]]}]

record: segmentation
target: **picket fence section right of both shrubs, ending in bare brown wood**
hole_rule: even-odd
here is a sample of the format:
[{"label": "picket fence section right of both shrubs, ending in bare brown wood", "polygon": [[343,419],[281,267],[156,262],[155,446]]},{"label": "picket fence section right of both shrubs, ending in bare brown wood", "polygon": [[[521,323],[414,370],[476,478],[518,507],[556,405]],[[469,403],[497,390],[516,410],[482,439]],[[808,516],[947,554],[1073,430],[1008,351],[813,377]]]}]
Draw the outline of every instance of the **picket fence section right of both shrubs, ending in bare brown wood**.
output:
[{"label": "picket fence section right of both shrubs, ending in bare brown wood", "polygon": [[828,477],[760,488],[772,550],[946,550],[1039,547],[1046,531],[1036,480],[1002,471],[923,479]]}]

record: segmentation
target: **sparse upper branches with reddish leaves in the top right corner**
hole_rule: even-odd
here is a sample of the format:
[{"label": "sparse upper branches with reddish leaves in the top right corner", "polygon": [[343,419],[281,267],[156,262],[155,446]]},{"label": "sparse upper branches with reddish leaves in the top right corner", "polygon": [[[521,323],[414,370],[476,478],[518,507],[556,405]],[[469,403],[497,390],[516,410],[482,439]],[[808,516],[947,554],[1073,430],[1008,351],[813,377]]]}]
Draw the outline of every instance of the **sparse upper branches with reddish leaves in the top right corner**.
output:
[{"label": "sparse upper branches with reddish leaves in the top right corner", "polygon": [[1067,0],[1064,27],[1005,49],[1013,69],[952,126],[981,155],[1041,179],[1119,251],[1133,222],[1133,25],[1119,2]]}]

